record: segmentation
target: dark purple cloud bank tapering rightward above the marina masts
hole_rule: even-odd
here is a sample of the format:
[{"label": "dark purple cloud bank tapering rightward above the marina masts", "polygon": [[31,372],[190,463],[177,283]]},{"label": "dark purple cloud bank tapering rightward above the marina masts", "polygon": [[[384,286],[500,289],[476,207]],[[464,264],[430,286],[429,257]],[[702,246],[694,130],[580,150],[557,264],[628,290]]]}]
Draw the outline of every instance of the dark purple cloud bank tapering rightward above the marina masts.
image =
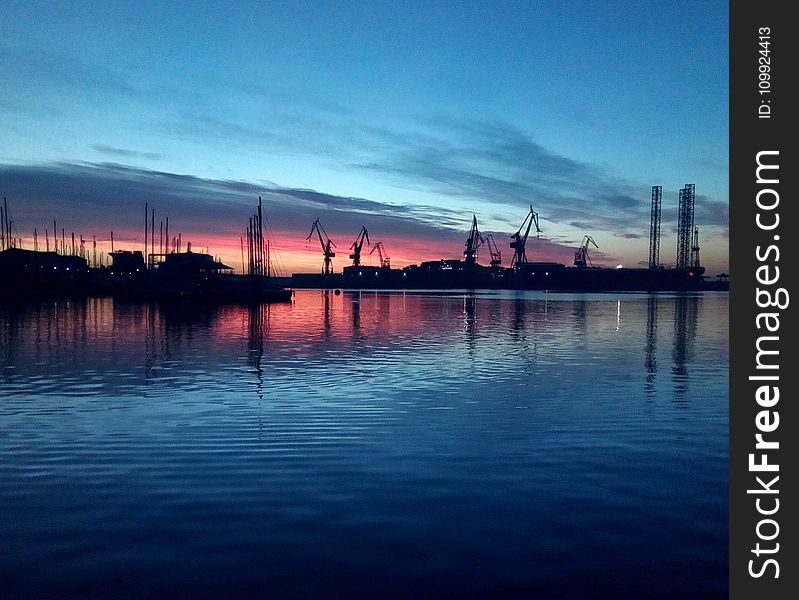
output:
[{"label": "dark purple cloud bank tapering rightward above the marina masts", "polygon": [[366,225],[375,239],[446,241],[457,256],[465,238],[462,214],[446,208],[204,179],[115,163],[5,165],[0,166],[0,181],[16,222],[31,231],[52,224],[53,219],[59,228],[76,233],[80,228],[89,235],[136,231],[143,228],[146,202],[156,210],[156,223],[169,216],[172,231],[213,232],[237,242],[261,196],[270,226],[292,239],[304,239],[317,217],[339,240],[354,238]]}]

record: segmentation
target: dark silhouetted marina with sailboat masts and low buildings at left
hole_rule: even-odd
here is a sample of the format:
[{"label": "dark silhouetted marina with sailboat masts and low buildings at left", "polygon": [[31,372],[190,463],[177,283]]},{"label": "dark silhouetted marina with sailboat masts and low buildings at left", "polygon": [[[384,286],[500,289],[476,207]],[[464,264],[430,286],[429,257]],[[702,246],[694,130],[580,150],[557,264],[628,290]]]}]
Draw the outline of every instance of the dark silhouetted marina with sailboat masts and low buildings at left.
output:
[{"label": "dark silhouetted marina with sailboat masts and low buildings at left", "polygon": [[[134,300],[187,300],[233,302],[289,302],[292,291],[284,286],[285,278],[272,277],[268,243],[263,233],[263,208],[249,218],[246,230],[247,255],[243,273],[235,274],[216,257],[192,251],[191,242],[182,249],[181,236],[169,237],[169,219],[160,223],[158,242],[155,235],[155,210],[145,205],[144,248],[114,248],[111,233],[110,263],[99,265],[94,248],[87,251],[83,237],[76,245],[62,243],[54,249],[25,249],[14,241],[4,199],[2,213],[3,250],[0,251],[0,279],[8,282],[6,298],[36,300],[58,297],[113,296]],[[164,228],[166,226],[166,229]],[[57,231],[54,223],[54,231]],[[55,240],[54,240],[55,241]],[[156,251],[157,249],[157,251]],[[102,257],[101,257],[102,258]],[[242,250],[242,261],[244,261]],[[90,264],[91,263],[91,264]]]}]

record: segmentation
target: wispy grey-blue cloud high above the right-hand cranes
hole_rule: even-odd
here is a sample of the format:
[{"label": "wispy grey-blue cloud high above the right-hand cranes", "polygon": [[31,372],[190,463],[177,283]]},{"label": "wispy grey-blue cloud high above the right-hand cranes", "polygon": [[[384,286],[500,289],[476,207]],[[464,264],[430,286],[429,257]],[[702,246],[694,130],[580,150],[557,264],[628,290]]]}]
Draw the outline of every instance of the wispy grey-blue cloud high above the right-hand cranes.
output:
[{"label": "wispy grey-blue cloud high above the right-hand cranes", "polygon": [[506,207],[532,204],[544,221],[635,233],[649,188],[553,153],[506,123],[426,120],[427,132],[355,166],[419,189]]}]

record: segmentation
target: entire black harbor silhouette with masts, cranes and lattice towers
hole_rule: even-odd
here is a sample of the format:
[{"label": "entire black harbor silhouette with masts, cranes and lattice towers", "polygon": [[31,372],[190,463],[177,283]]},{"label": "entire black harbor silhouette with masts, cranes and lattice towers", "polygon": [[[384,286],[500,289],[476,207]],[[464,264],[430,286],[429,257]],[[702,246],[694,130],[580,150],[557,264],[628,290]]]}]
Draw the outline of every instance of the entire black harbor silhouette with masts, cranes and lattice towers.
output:
[{"label": "entire black harbor silhouette with masts, cranes and lattice towers", "polygon": [[[685,292],[729,289],[728,276],[716,280],[705,276],[699,258],[699,228],[694,219],[694,187],[680,190],[677,262],[667,268],[660,260],[660,219],[662,192],[652,188],[649,261],[645,268],[596,266],[591,247],[598,248],[590,235],[583,237],[574,252],[572,265],[528,258],[530,245],[541,233],[539,215],[530,206],[519,229],[509,236],[513,252],[509,266],[503,266],[502,249],[494,234],[483,234],[475,215],[466,238],[462,258],[423,261],[401,268],[391,266],[383,242],[371,242],[366,226],[361,228],[349,247],[351,264],[339,272],[334,267],[335,243],[317,218],[307,241],[319,243],[322,267],[318,273],[273,273],[270,252],[274,240],[264,234],[264,209],[261,198],[249,217],[245,236],[240,239],[241,269],[221,262],[218,257],[192,250],[181,235],[169,235],[169,219],[155,222],[155,209],[145,204],[142,250],[116,249],[111,232],[109,264],[99,264],[96,237],[92,248],[75,234],[67,243],[64,230],[61,240],[53,235],[50,249],[39,248],[38,230],[34,230],[33,249],[23,248],[11,232],[8,203],[0,217],[3,221],[0,278],[13,282],[7,294],[15,298],[57,296],[118,296],[138,299],[195,299],[202,301],[285,302],[293,289],[371,289],[371,290],[540,290],[553,292]],[[531,236],[531,231],[535,237]],[[156,230],[158,235],[156,237]],[[57,232],[53,222],[53,232]],[[102,254],[102,253],[101,253]],[[482,264],[488,255],[488,264]],[[377,265],[364,264],[374,256]]]}]

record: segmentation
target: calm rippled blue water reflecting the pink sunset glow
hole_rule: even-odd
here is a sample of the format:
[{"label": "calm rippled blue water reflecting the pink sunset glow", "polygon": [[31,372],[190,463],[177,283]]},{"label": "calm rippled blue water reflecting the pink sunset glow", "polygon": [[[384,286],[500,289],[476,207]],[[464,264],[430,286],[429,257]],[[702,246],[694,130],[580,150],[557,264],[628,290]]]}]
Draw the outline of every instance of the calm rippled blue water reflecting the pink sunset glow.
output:
[{"label": "calm rippled blue water reflecting the pink sunset glow", "polygon": [[0,597],[726,596],[727,317],[0,307]]}]

